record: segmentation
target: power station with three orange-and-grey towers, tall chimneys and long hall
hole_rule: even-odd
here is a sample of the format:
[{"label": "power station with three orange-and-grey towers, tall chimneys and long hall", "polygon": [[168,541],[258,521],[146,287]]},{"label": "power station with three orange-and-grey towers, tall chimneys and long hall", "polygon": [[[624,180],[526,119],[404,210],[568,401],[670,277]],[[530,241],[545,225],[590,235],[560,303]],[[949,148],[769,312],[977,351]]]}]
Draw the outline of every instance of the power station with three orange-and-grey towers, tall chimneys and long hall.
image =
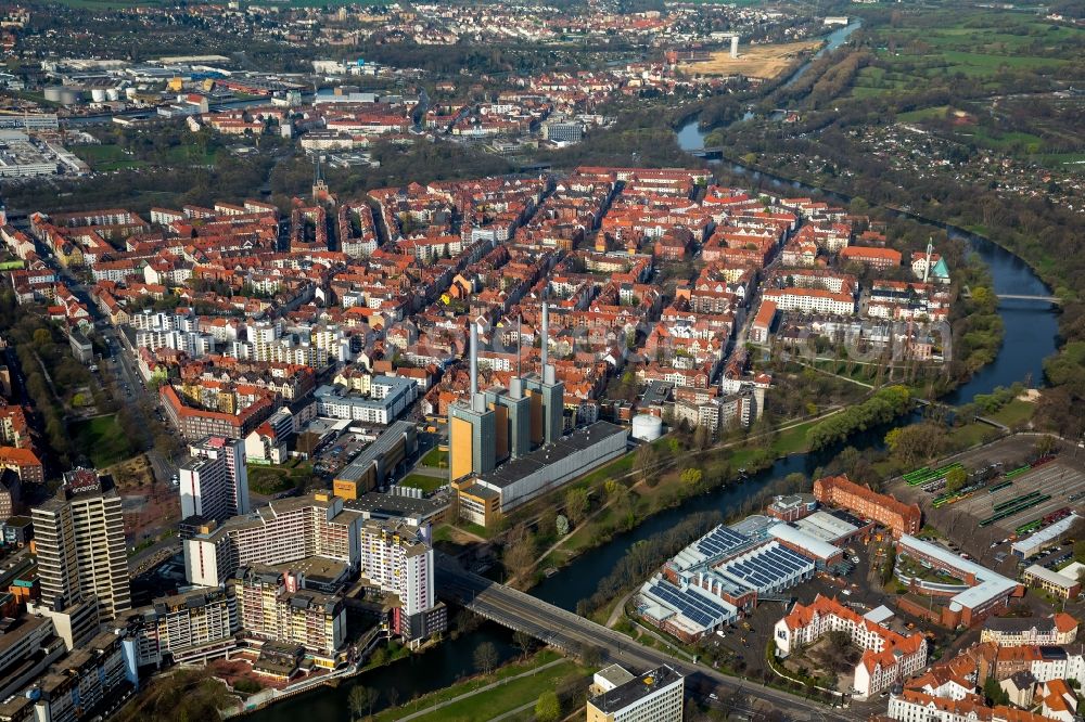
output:
[{"label": "power station with three orange-and-grey towers, tall chimneys and long hall", "polygon": [[626,450],[628,431],[605,422],[563,437],[565,386],[549,363],[548,339],[544,304],[539,371],[512,378],[509,388],[480,391],[471,324],[471,388],[448,408],[449,478],[464,519],[485,526]]}]

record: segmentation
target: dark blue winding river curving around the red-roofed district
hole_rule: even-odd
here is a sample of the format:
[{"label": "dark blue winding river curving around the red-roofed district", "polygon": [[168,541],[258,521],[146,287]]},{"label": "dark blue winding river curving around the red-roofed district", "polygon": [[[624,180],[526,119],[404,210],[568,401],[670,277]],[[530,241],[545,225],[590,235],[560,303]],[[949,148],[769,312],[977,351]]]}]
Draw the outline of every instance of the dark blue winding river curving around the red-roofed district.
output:
[{"label": "dark blue winding river curving around the red-roofed district", "polygon": [[[832,47],[839,47],[851,35],[858,24],[840,28],[830,36],[830,42],[822,52]],[[835,44],[833,37],[835,36]],[[797,74],[807,67],[804,65],[789,80],[794,80]],[[686,151],[704,147],[705,132],[698,127],[697,119],[691,120],[678,131],[678,142]],[[781,188],[802,192],[825,194],[802,183],[786,181],[764,176],[742,166],[733,165],[732,169],[745,173],[751,181],[767,181]],[[839,194],[829,194],[838,201],[847,199]],[[972,252],[987,265],[994,279],[995,292],[1023,295],[1048,295],[1050,289],[1033,273],[1032,269],[1020,258],[986,238],[968,233],[960,229],[946,229],[954,237],[966,241]],[[970,401],[976,394],[988,394],[996,386],[1009,386],[1018,381],[1031,379],[1036,385],[1043,379],[1043,360],[1055,352],[1058,325],[1054,308],[1047,304],[1035,301],[1004,301],[999,309],[1005,325],[1005,339],[995,361],[946,397],[952,403]],[[918,418],[918,414],[916,418]],[[872,449],[882,444],[884,429],[872,429],[853,437],[846,446],[858,449]],[[702,497],[687,501],[681,506],[667,510],[647,519],[631,531],[615,536],[605,544],[589,550],[561,569],[558,573],[544,579],[532,590],[535,596],[551,604],[575,610],[576,603],[596,591],[599,579],[614,567],[620,558],[633,544],[674,527],[692,511],[719,510],[725,515],[736,510],[748,500],[755,497],[770,480],[779,479],[792,472],[810,474],[818,465],[825,464],[840,449],[831,449],[817,454],[791,454],[778,460],[766,470],[754,475],[745,484],[732,485],[717,489]],[[471,673],[472,656],[475,647],[484,642],[494,642],[503,659],[511,658],[515,650],[511,645],[511,633],[492,623],[484,624],[478,631],[465,634],[452,641],[446,641],[435,649],[411,661],[399,662],[355,680],[341,684],[335,689],[321,689],[276,704],[248,719],[259,722],[296,722],[305,719],[307,722],[341,722],[348,719],[346,705],[349,689],[355,684],[363,684],[375,689],[386,689],[395,686],[399,691],[400,704],[413,694],[424,694],[447,686],[460,676]],[[381,698],[378,708],[387,706],[386,697]]]}]

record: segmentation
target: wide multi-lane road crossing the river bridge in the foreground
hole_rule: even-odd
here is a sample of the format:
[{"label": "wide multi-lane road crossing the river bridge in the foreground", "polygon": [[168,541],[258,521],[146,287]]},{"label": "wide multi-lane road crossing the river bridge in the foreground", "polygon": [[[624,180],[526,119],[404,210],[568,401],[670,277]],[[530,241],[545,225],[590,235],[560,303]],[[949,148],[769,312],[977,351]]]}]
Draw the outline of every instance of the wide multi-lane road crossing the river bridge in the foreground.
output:
[{"label": "wide multi-lane road crossing the river bridge in the foreground", "polygon": [[[480,577],[460,568],[454,560],[439,557],[436,584],[442,596],[462,604],[482,617],[556,647],[577,652],[586,647],[601,650],[603,661],[617,662],[633,670],[648,670],[669,665],[688,676],[687,689],[703,699],[709,695],[724,699],[748,694],[763,699],[782,711],[789,720],[855,720],[857,714],[846,710],[829,709],[804,697],[779,689],[757,686],[727,676],[701,665],[691,665],[671,655],[643,646],[626,635],[579,617],[571,611],[542,602],[529,594]],[[746,691],[743,692],[743,687]],[[711,698],[711,699],[715,699]],[[760,713],[761,710],[732,706],[737,712]]]}]

